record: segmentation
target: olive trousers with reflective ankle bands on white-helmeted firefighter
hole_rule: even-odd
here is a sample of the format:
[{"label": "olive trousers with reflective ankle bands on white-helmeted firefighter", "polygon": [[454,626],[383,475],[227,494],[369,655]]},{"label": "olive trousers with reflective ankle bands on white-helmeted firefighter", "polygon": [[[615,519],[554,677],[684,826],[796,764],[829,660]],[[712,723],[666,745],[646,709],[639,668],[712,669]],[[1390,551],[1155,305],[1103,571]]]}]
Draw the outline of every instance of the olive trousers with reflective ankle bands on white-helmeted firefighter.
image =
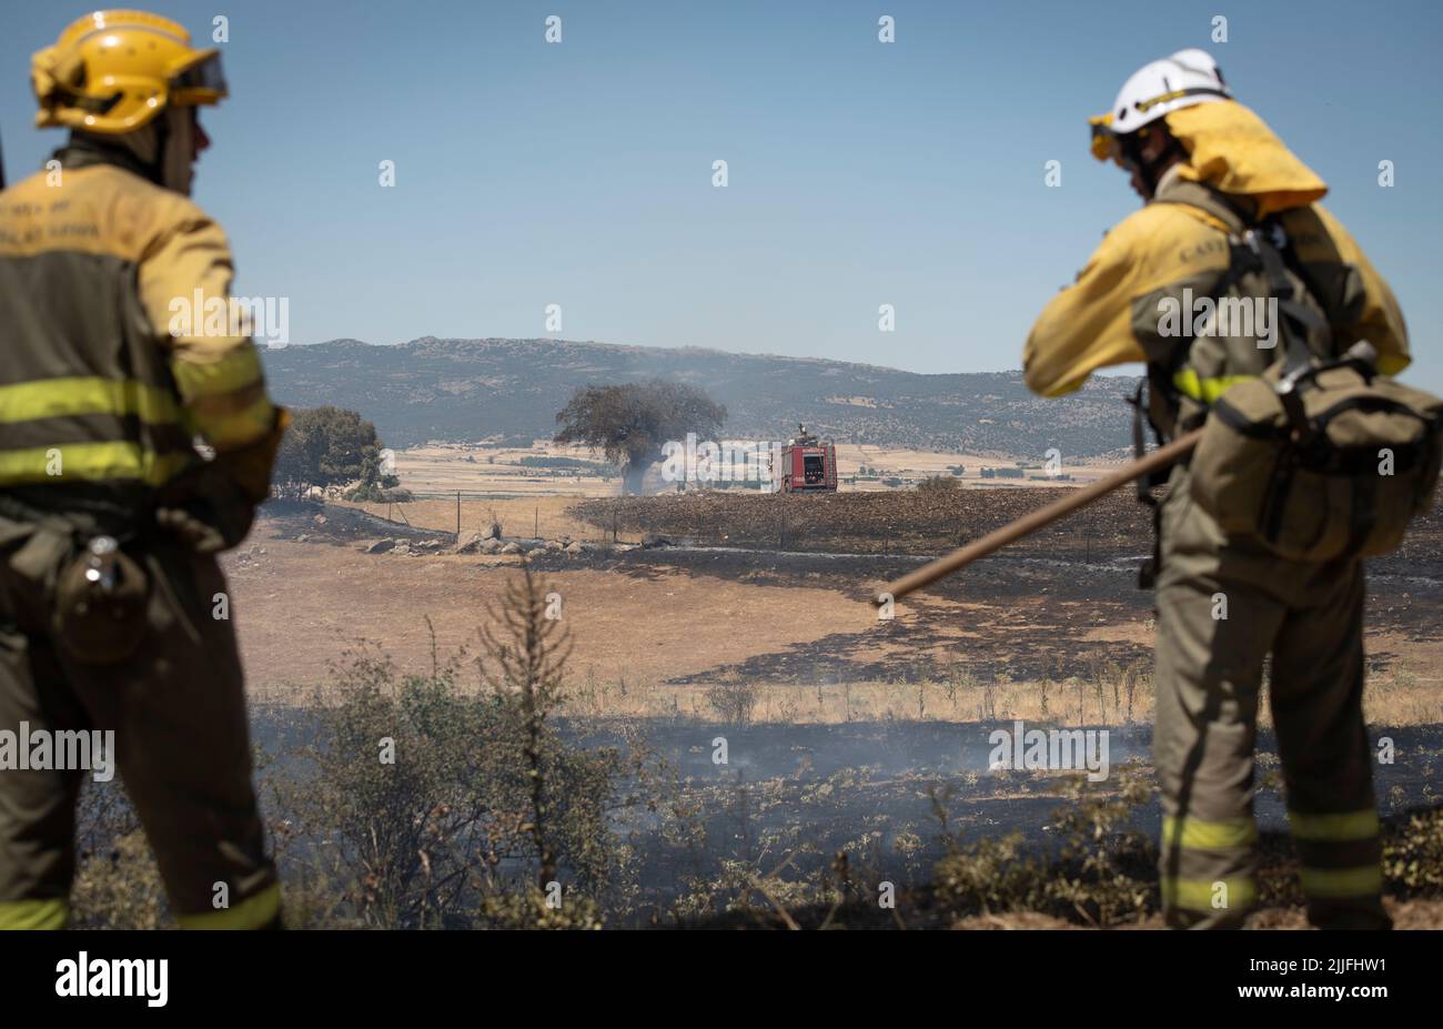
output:
[{"label": "olive trousers with reflective ankle bands on white-helmeted firefighter", "polygon": [[1160,514],[1156,729],[1169,925],[1240,927],[1257,901],[1254,745],[1264,661],[1307,915],[1387,928],[1364,727],[1364,572],[1228,540],[1172,475]]}]

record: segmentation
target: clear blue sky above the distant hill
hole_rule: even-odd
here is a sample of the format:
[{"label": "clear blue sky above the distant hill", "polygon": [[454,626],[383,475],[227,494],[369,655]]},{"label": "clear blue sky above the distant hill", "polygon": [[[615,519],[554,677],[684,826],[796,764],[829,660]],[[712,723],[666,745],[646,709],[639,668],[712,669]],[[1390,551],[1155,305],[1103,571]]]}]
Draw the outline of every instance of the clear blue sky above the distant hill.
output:
[{"label": "clear blue sky above the distant hill", "polygon": [[[222,43],[196,201],[237,293],[290,299],[293,342],[561,336],[1020,365],[1042,305],[1137,205],[1087,117],[1139,65],[1219,59],[1332,186],[1392,283],[1418,385],[1443,388],[1437,3],[160,3]],[[12,179],[29,55],[85,12],[0,0]],[[563,42],[543,39],[561,17]],[[877,42],[877,17],[898,40]],[[1211,40],[1228,17],[1228,42]],[[711,186],[711,162],[730,183]],[[1380,160],[1397,185],[1377,185]],[[395,162],[397,185],[378,185]],[[1062,162],[1062,188],[1043,165]],[[561,305],[560,332],[544,309]],[[896,332],[877,332],[877,306]]]}]

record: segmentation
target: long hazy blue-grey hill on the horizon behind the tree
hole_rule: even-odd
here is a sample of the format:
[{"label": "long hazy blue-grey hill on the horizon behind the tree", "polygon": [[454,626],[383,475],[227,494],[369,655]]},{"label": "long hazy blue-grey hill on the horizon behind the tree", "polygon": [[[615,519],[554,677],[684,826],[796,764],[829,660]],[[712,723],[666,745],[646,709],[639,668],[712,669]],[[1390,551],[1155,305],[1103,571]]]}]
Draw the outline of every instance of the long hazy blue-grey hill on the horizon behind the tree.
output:
[{"label": "long hazy blue-grey hill on the horizon behind the tree", "polygon": [[263,352],[281,403],[355,408],[390,446],[550,437],[576,387],[662,377],[726,404],[729,439],[786,439],[801,421],[846,443],[1038,459],[1056,446],[1063,457],[1085,457],[1128,446],[1123,397],[1136,385],[1094,378],[1071,397],[1042,400],[1016,371],[918,375],[818,358],[553,339],[335,339]]}]

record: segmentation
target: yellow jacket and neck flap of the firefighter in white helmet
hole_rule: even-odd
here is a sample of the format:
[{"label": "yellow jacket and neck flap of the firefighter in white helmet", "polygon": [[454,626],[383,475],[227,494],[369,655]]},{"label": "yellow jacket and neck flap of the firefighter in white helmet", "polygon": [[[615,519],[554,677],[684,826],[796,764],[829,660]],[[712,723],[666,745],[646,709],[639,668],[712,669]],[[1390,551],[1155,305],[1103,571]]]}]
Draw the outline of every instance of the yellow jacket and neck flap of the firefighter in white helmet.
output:
[{"label": "yellow jacket and neck flap of the firefighter in white helmet", "polygon": [[[1287,234],[1310,303],[1332,329],[1330,346],[1367,339],[1381,372],[1405,368],[1398,303],[1317,203],[1328,192],[1322,179],[1237,101],[1166,118],[1189,160],[1169,169],[1153,202],[1113,228],[1076,283],[1042,312],[1023,354],[1027,385],[1055,397],[1098,368],[1146,362],[1153,421],[1169,434],[1195,429],[1229,385],[1261,374],[1281,354],[1277,338],[1260,346],[1268,342],[1263,329],[1276,330],[1255,318],[1266,307],[1253,303],[1266,296],[1266,279],[1234,279],[1229,242],[1240,224],[1270,216]],[[1211,312],[1205,299],[1216,300]],[[1192,338],[1183,332],[1189,326]]]}]

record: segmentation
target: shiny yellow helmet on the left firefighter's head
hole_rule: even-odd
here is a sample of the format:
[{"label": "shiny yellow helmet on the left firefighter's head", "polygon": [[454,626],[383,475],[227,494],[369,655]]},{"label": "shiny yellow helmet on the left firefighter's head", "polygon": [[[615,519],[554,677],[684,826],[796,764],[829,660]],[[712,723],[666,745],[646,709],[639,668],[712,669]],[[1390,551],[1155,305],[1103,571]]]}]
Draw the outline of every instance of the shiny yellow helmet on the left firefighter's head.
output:
[{"label": "shiny yellow helmet on the left firefighter's head", "polygon": [[30,85],[38,127],[111,136],[140,128],[167,104],[227,95],[219,52],[195,49],[183,26],[143,10],[98,10],[71,23],[30,59]]}]

